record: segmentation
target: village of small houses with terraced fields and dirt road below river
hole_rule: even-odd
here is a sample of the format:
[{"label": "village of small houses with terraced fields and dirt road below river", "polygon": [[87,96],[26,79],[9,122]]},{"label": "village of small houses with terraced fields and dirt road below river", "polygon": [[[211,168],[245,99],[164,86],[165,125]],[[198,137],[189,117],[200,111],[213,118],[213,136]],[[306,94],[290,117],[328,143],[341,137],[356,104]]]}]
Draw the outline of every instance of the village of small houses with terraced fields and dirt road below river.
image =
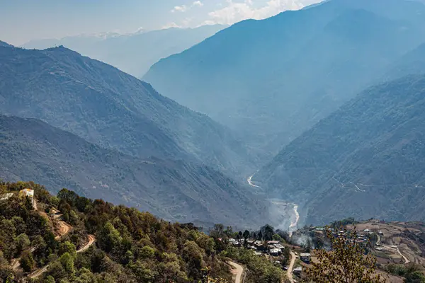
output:
[{"label": "village of small houses with terraced fields and dirt road below river", "polygon": [[[412,233],[421,235],[424,227],[419,224],[402,222],[385,222],[375,219],[348,224],[344,228],[331,229],[331,234],[337,237],[346,237],[348,231],[355,229],[355,241],[364,248],[365,254],[377,258],[377,274],[389,279],[388,282],[404,282],[402,277],[391,275],[387,272],[388,265],[407,265],[416,262],[424,265],[424,246],[418,239],[414,240]],[[408,235],[409,234],[409,235]],[[301,243],[300,238],[306,239]],[[330,250],[325,227],[305,226],[293,233],[290,238],[280,241],[260,241],[255,238],[229,238],[229,245],[235,248],[252,250],[253,256],[264,257],[273,262],[277,267],[287,272],[288,282],[299,282],[305,275],[305,270],[312,262],[317,262],[314,254],[315,248]]]}]

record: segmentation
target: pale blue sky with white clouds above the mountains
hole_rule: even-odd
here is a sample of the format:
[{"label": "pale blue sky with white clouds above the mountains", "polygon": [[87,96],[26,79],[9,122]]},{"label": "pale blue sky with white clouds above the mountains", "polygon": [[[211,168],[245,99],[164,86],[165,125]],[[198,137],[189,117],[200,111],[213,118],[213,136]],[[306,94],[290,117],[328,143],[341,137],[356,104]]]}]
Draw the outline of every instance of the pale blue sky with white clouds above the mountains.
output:
[{"label": "pale blue sky with white clouds above the mountains", "polygon": [[319,0],[0,0],[0,40],[135,33],[233,24],[295,10]]}]

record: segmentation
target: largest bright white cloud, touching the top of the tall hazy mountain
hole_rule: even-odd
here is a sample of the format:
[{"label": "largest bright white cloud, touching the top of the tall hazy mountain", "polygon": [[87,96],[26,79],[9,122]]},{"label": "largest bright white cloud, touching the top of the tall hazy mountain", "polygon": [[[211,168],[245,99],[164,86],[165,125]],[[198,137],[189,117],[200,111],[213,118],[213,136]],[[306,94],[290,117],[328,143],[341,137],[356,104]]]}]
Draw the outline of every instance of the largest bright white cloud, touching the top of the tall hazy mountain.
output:
[{"label": "largest bright white cloud, touching the top of the tall hazy mountain", "polygon": [[252,0],[227,0],[227,6],[208,13],[209,19],[204,21],[203,24],[233,24],[247,18],[261,20],[282,11],[298,10],[307,6],[307,4],[319,1],[321,0],[269,0],[265,6],[257,7]]}]

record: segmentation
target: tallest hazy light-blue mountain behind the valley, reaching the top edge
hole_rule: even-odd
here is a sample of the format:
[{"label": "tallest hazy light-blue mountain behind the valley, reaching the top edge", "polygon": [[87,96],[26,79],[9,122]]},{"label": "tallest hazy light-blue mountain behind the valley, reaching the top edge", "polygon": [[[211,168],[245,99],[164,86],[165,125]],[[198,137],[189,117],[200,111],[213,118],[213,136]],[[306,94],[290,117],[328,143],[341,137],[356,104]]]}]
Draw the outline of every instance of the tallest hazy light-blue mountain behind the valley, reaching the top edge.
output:
[{"label": "tallest hazy light-blue mountain behind the valley, reaching the top edge", "polygon": [[273,154],[419,45],[424,15],[415,1],[326,1],[232,25],[144,79]]}]

